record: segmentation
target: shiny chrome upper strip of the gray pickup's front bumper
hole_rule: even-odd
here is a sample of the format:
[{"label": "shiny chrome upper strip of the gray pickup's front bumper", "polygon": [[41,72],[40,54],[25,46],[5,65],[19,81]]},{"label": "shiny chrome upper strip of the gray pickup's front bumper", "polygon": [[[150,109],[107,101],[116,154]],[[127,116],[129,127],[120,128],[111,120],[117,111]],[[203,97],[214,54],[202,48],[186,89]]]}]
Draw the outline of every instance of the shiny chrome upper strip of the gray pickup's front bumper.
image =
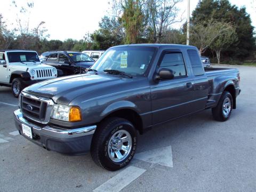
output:
[{"label": "shiny chrome upper strip of the gray pickup's front bumper", "polygon": [[59,139],[68,139],[68,138],[75,138],[75,137],[82,137],[85,135],[91,135],[94,133],[96,129],[96,125],[91,126],[85,126],[78,129],[59,129],[51,126],[38,126],[36,124],[33,124],[27,119],[23,117],[23,114],[21,113],[21,110],[15,110],[14,111],[15,121],[18,121],[20,124],[28,125],[33,129],[33,131],[46,135],[48,137],[52,138],[59,138]]}]

